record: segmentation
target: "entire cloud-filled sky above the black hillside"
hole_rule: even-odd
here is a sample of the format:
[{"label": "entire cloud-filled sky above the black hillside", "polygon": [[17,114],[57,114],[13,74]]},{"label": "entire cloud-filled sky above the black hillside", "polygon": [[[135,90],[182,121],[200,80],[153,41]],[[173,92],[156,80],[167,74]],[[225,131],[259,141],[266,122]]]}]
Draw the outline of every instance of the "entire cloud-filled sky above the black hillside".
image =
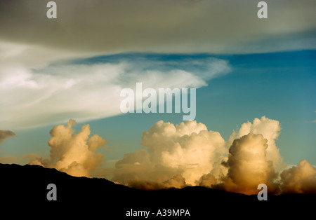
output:
[{"label": "entire cloud-filled sky above the black hillside", "polygon": [[[267,19],[247,0],[55,2],[56,19],[46,1],[0,2],[0,163],[254,193],[248,167],[233,169],[249,160],[272,192],[310,190],[315,1],[266,1]],[[196,88],[195,121],[122,114],[120,92],[137,82]],[[261,157],[244,158],[248,147]]]}]

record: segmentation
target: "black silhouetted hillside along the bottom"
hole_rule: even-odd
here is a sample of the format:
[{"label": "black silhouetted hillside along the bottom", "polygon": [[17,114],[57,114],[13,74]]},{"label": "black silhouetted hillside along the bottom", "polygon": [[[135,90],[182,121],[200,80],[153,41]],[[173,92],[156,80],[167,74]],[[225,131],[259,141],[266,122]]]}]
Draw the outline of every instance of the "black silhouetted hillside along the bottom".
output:
[{"label": "black silhouetted hillside along the bottom", "polygon": [[[39,165],[0,164],[0,174],[2,207],[57,209],[71,205],[77,207],[77,212],[102,211],[104,216],[112,216],[110,219],[145,219],[145,216],[126,216],[126,211],[131,209],[150,210],[147,219],[213,219],[214,213],[223,214],[225,219],[230,216],[248,219],[251,213],[284,217],[295,212],[303,215],[312,213],[316,204],[316,194],[268,195],[268,201],[258,201],[257,195],[202,186],[143,191],[114,184],[107,179],[72,177]],[[48,184],[57,187],[55,201],[46,198]],[[157,216],[158,209],[188,209],[190,216]]]}]

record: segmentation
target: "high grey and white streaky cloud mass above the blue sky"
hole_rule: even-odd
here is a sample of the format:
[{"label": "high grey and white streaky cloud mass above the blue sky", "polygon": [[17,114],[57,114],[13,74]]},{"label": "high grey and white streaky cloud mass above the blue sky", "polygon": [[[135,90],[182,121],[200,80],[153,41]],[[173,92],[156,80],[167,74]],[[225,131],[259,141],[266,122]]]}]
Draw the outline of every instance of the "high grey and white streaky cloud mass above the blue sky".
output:
[{"label": "high grey and white streaky cloud mass above the blue sky", "polygon": [[[1,1],[0,95],[6,97],[0,102],[6,106],[0,109],[1,129],[114,116],[120,113],[117,94],[130,79],[134,85],[141,78],[153,88],[199,88],[228,67],[225,60],[187,59],[170,69],[166,60],[165,65],[150,62],[131,52],[264,53],[315,48],[312,0],[299,5],[294,0],[268,1],[269,18],[264,21],[256,18],[257,3],[249,1],[120,2],[57,0],[58,18],[49,20],[47,2]],[[65,63],[121,53],[131,59]],[[88,104],[81,104],[82,100]]]}]

